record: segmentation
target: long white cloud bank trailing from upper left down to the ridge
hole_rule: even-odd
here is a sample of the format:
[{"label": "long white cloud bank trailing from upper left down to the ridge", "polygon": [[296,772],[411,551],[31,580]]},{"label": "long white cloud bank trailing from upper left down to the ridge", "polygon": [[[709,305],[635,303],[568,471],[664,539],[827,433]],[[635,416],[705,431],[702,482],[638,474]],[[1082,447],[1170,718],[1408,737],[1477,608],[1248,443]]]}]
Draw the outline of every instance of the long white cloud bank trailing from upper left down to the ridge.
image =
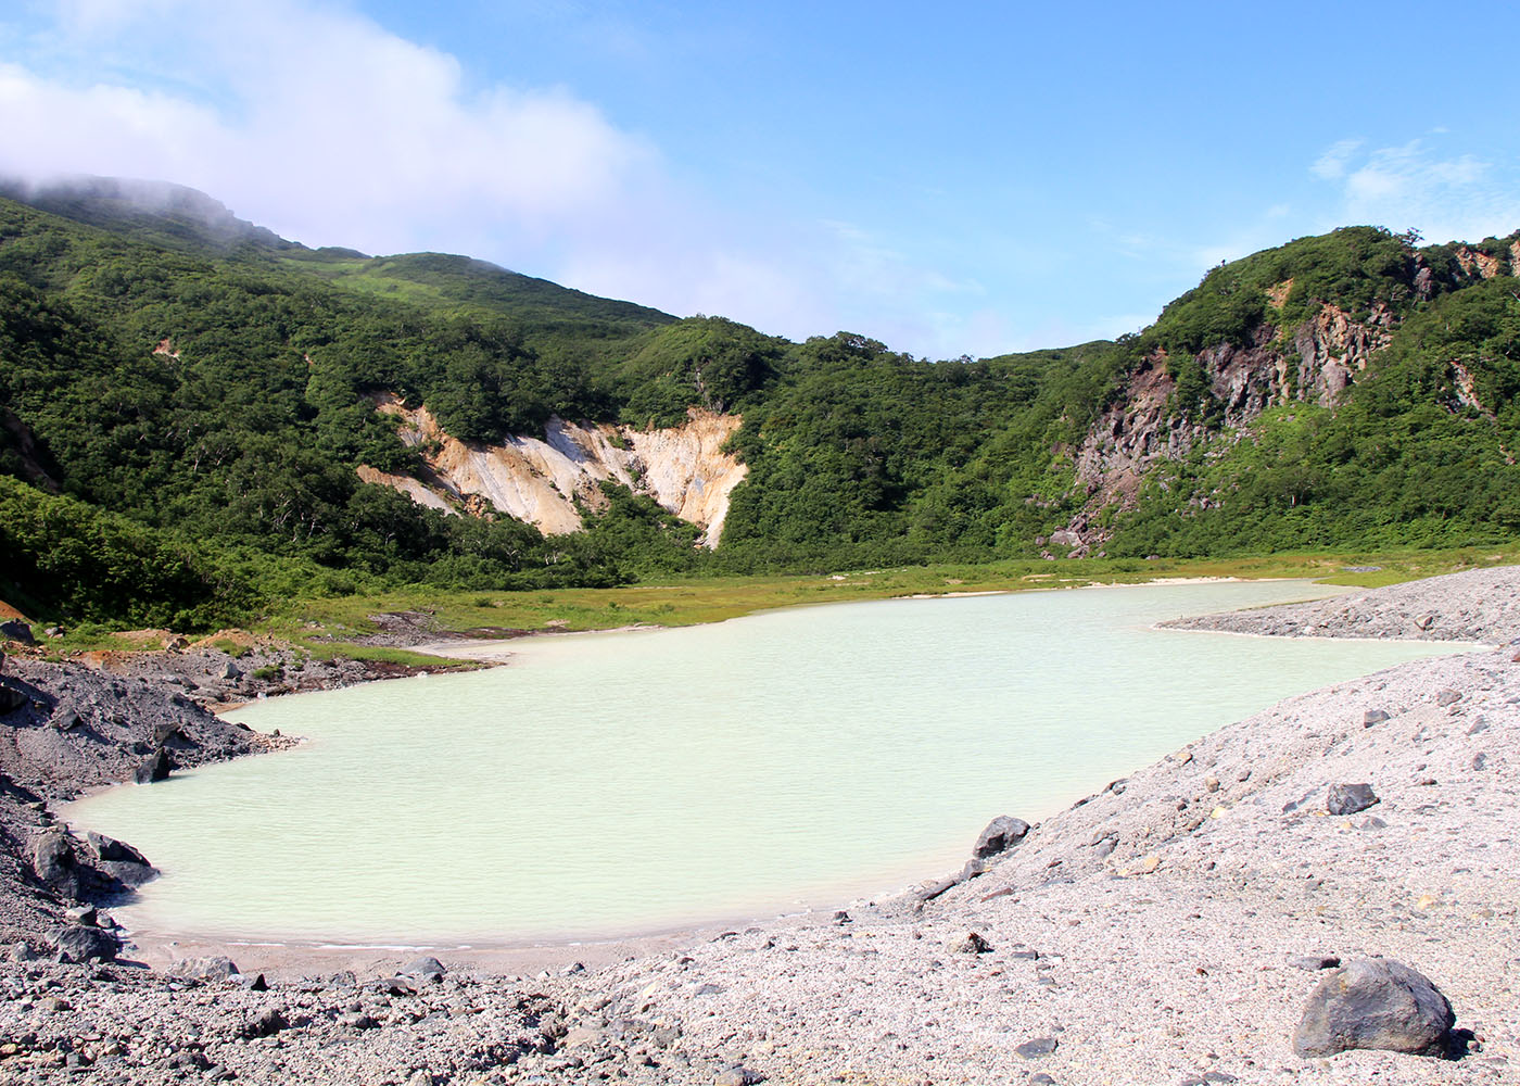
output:
[{"label": "long white cloud bank trailing from upper left down to the ridge", "polygon": [[999,347],[968,342],[986,315],[941,312],[977,284],[856,227],[725,208],[594,103],[480,88],[458,58],[330,2],[49,11],[41,49],[0,56],[0,175],[175,181],[307,245],[465,252],[792,338]]}]

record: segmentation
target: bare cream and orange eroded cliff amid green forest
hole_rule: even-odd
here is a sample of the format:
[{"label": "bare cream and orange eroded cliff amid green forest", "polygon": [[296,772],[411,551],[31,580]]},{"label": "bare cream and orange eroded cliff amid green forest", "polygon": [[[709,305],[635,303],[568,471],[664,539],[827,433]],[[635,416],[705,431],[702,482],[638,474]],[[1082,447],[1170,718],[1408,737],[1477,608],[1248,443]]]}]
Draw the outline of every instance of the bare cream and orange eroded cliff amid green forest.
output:
[{"label": "bare cream and orange eroded cliff amid green forest", "polygon": [[655,430],[552,418],[543,438],[488,446],[450,437],[426,406],[407,408],[394,395],[380,397],[375,409],[397,417],[401,440],[421,453],[426,472],[410,478],[362,465],[360,479],[444,513],[505,513],[546,535],[581,531],[576,502],[603,506],[600,484],[610,481],[704,528],[702,545],[713,548],[728,497],[748,472],[722,452],[743,421],[739,415],[693,409],[682,426]]}]

